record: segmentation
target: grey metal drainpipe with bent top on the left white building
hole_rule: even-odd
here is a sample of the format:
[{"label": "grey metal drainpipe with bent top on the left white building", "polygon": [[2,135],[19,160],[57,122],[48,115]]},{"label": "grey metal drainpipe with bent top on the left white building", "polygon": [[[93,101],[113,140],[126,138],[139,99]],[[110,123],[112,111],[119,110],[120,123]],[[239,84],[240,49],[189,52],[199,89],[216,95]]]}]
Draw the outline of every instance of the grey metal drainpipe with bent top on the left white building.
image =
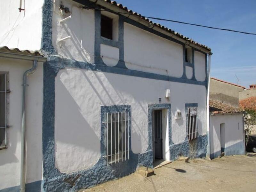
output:
[{"label": "grey metal drainpipe with bent top on the left white building", "polygon": [[21,120],[21,158],[20,158],[20,192],[25,192],[26,184],[26,95],[28,76],[37,69],[37,60],[33,60],[33,66],[23,74],[22,93],[22,120]]}]

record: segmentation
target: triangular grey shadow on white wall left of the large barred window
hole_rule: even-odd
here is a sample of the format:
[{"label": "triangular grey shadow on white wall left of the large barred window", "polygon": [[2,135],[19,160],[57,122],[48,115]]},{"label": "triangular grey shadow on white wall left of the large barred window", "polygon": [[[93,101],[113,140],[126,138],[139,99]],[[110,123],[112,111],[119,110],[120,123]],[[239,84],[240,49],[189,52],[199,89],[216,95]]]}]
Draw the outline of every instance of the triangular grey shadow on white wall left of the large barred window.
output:
[{"label": "triangular grey shadow on white wall left of the large barred window", "polygon": [[[55,136],[58,134],[58,141],[79,145],[81,147],[86,146],[87,149],[99,151],[99,148],[95,147],[95,144],[100,147],[100,135],[95,134],[92,127],[81,114],[80,106],[77,105],[76,101],[63,84],[61,84],[60,92],[61,97],[58,97],[56,103],[59,103],[58,111],[64,113],[61,115],[55,114],[55,121],[58,121],[58,126],[62,127],[60,131],[55,130]],[[84,126],[81,127],[81,125]],[[63,129],[64,127],[68,129]]]}]

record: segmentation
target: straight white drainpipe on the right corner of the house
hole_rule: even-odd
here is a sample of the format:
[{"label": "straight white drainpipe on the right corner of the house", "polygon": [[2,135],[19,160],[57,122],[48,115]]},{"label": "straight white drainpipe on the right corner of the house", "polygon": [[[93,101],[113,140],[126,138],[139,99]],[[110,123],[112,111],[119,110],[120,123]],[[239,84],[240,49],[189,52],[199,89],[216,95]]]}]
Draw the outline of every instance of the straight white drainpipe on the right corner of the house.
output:
[{"label": "straight white drainpipe on the right corner of the house", "polygon": [[212,53],[209,54],[209,60],[208,60],[208,82],[207,82],[207,103],[206,103],[206,121],[207,121],[207,157],[210,158],[210,111],[209,111],[209,99],[210,99],[210,70],[211,70],[211,56]]}]

